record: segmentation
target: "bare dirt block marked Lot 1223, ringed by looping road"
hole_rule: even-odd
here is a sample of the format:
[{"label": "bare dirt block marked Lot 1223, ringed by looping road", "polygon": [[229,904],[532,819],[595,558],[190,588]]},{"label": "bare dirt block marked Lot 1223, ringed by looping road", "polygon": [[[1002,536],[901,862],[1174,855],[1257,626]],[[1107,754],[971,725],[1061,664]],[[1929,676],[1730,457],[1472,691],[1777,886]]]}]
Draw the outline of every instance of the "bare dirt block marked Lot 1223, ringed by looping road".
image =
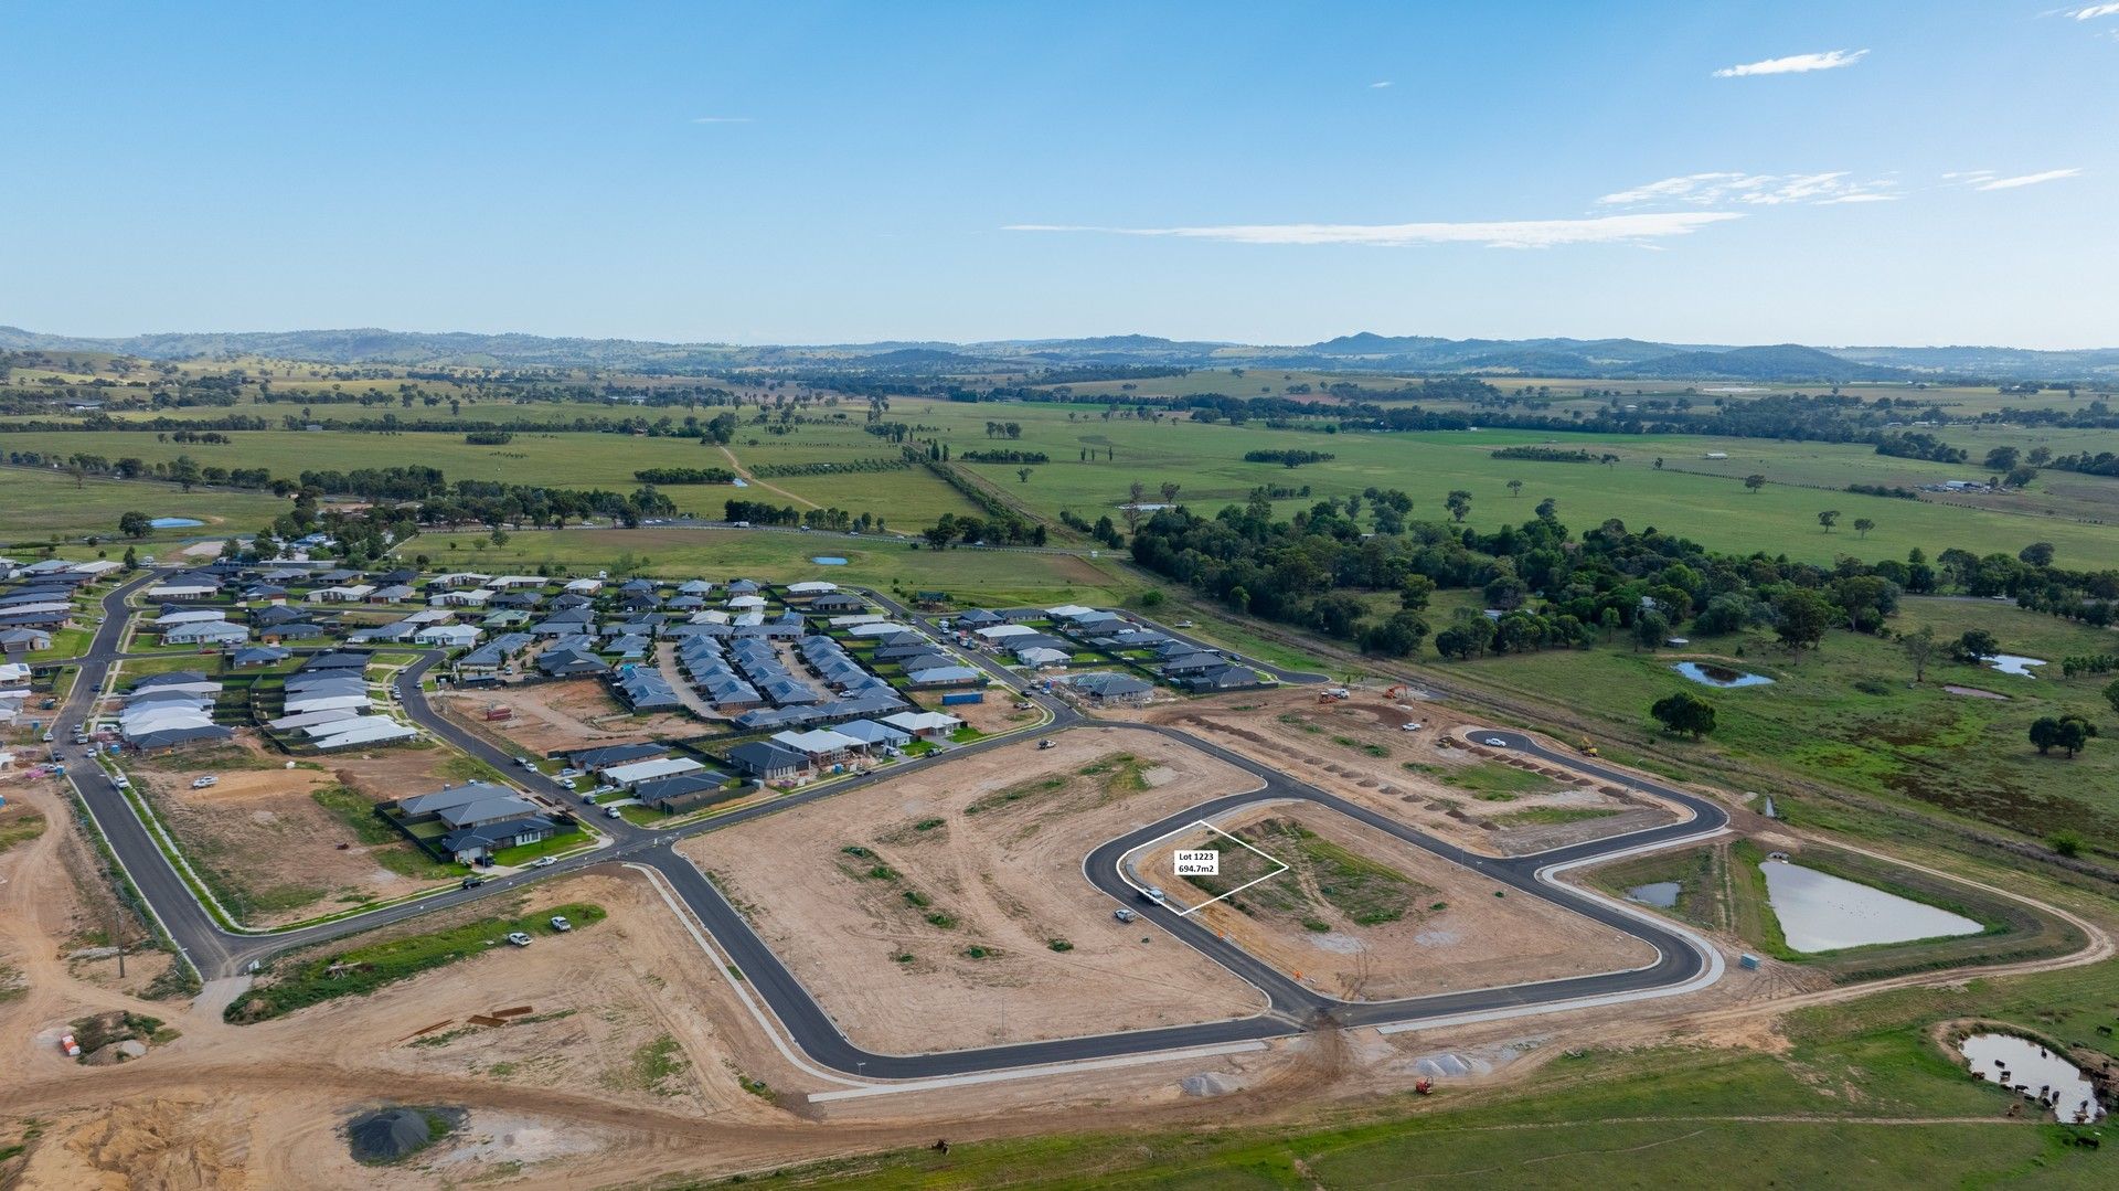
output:
[{"label": "bare dirt block marked Lot 1223, ringed by looping road", "polygon": [[[1341,1000],[1606,973],[1655,958],[1638,939],[1504,892],[1471,869],[1314,803],[1261,803],[1214,826],[1278,865],[1197,829],[1132,856],[1138,879],[1182,905],[1204,905],[1197,918],[1206,926]],[[1221,875],[1176,877],[1172,852],[1180,848],[1218,850]],[[1208,901],[1252,877],[1263,879]]]}]

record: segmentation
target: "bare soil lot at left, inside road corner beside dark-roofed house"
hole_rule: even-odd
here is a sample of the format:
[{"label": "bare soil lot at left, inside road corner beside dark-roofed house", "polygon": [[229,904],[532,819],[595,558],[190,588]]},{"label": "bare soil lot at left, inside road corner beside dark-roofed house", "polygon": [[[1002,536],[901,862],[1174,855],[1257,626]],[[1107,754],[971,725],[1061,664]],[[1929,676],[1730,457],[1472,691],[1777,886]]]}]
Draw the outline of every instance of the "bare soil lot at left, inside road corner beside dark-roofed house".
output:
[{"label": "bare soil lot at left, inside road corner beside dark-roofed house", "polygon": [[[381,831],[369,807],[456,780],[453,757],[445,748],[390,748],[286,769],[284,757],[239,731],[229,746],[140,759],[131,776],[184,856],[208,869],[222,905],[267,926],[445,879],[451,869]],[[218,782],[191,788],[206,774]]]}]

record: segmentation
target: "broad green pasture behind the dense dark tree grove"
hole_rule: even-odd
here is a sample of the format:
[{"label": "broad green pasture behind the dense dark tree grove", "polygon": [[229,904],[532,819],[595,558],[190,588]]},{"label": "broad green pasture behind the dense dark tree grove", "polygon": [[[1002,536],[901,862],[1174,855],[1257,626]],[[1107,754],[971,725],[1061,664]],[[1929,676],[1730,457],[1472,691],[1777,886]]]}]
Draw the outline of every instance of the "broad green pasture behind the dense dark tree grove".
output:
[{"label": "broad green pasture behind the dense dark tree grove", "polygon": [[[1068,415],[1072,413],[1072,420]],[[1399,432],[1399,434],[1320,434],[1305,430],[1271,430],[1265,426],[1208,426],[1165,417],[1104,420],[1102,407],[1089,405],[954,405],[896,401],[890,417],[947,428],[943,441],[962,456],[966,449],[1043,451],[1049,464],[1034,466],[1030,481],[1017,477],[1017,464],[966,464],[1009,496],[1032,509],[1057,515],[1062,509],[1085,519],[1112,515],[1127,500],[1127,485],[1142,481],[1148,500],[1157,500],[1161,483],[1178,485],[1178,500],[1212,513],[1229,502],[1242,502],[1259,485],[1310,485],[1310,500],[1280,502],[1280,513],[1293,513],[1324,496],[1350,496],[1367,487],[1401,487],[1413,496],[1415,517],[1441,517],[1443,498],[1452,490],[1473,494],[1468,523],[1490,530],[1532,517],[1538,500],[1560,502],[1560,519],[1591,528],[1606,517],[1619,517],[1627,528],[1655,526],[1678,532],[1731,553],[1786,553],[1810,562],[1831,562],[1839,553],[1863,557],[1903,557],[1920,547],[1930,555],[1945,547],[1973,553],[2015,553],[2034,540],[2060,547],[2075,566],[2119,564],[2119,536],[2108,528],[2079,523],[2068,517],[2036,513],[2038,494],[2022,500],[2022,511],[1956,509],[1945,504],[1856,496],[1841,492],[1848,483],[1924,483],[1935,479],[1969,479],[1979,468],[1890,460],[1863,445],[1771,443],[1746,439],[1740,443],[1685,434],[1604,437],[1545,434],[1528,430],[1479,432]],[[1017,422],[1015,441],[985,437],[985,422]],[[1619,454],[1615,466],[1496,460],[1492,451],[1507,445],[1545,443],[1557,439],[1566,449],[1593,456]],[[2115,439],[2104,434],[2106,441]],[[1966,439],[1971,449],[1983,441]],[[1996,437],[1994,443],[2000,445]],[[1280,464],[1244,462],[1254,449],[1329,451],[1331,462],[1286,468]],[[2087,447],[2070,443],[2068,449]],[[1708,451],[1738,449],[1765,462],[1733,468],[1731,475],[1691,475],[1672,464],[1691,460],[1706,464]],[[2055,445],[2055,449],[2060,449]],[[1098,458],[1083,460],[1083,451]],[[1110,451],[1115,458],[1102,458]],[[1981,451],[1983,454],[1983,451]],[[1657,470],[1653,460],[1666,458]],[[1727,462],[1719,466],[1729,466]],[[1776,468],[1786,483],[1774,483]],[[1767,475],[1767,485],[1748,492],[1742,477],[1752,470]],[[2041,483],[2060,483],[2064,473],[2047,473]],[[1521,479],[1521,496],[1509,496],[1507,483]],[[2066,477],[2077,481],[2081,477]],[[1797,487],[1797,483],[1818,487]],[[2102,490],[2102,483],[2094,485]],[[2119,485],[2115,485],[2119,494]],[[2068,509],[2081,511],[2083,500],[2070,498]],[[1818,513],[1837,509],[1839,530],[1818,528]],[[1867,538],[1852,532],[1854,519],[1877,523]]]}]

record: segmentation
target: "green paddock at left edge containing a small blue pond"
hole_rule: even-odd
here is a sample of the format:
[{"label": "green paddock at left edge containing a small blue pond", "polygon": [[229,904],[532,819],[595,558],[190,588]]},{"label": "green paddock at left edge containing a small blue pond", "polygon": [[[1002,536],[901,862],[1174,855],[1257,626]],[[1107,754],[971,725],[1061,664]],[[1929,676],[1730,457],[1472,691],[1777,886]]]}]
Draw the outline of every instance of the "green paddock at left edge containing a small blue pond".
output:
[{"label": "green paddock at left edge containing a small blue pond", "polygon": [[[91,437],[66,434],[74,451],[97,449]],[[11,434],[0,434],[8,449]],[[83,534],[117,536],[121,513],[148,517],[195,517],[203,528],[155,530],[146,543],[197,538],[216,532],[252,532],[284,513],[286,500],[269,492],[193,490],[174,483],[138,483],[123,479],[83,479],[76,485],[61,473],[0,466],[0,543],[40,543],[51,534],[78,538]],[[150,549],[142,543],[142,549]],[[112,543],[125,553],[125,543]]]}]

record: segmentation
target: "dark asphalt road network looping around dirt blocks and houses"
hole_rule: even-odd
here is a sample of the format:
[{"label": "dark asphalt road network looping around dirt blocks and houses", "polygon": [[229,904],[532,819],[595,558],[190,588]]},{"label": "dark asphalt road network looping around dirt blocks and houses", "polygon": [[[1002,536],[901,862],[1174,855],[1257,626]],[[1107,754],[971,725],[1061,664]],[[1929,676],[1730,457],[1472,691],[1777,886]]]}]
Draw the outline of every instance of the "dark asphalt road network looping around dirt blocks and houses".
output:
[{"label": "dark asphalt road network looping around dirt blocks and houses", "polygon": [[[57,735],[64,740],[70,731],[87,718],[93,708],[97,693],[110,672],[110,665],[121,657],[117,651],[127,623],[125,598],[146,583],[150,576],[136,579],[110,591],[104,598],[104,623],[97,627],[89,653],[78,661],[81,674],[68,697],[66,708],[59,710],[55,721]],[[901,617],[920,619],[903,606],[877,596],[886,608]],[[1165,629],[1168,632],[1168,629]],[[1178,634],[1182,636],[1182,634]],[[449,740],[464,752],[479,757],[500,771],[515,771],[513,757],[494,748],[492,744],[479,740],[477,735],[460,729],[458,725],[434,712],[424,695],[420,693],[420,678],[437,661],[439,655],[424,653],[413,665],[405,668],[396,676],[396,699],[405,714],[415,721],[424,731],[430,731],[443,740]],[[1002,668],[992,657],[973,653],[981,668],[1000,678],[1007,689],[1017,691],[1019,676]],[[1318,680],[1310,674],[1284,674],[1286,680]],[[1072,706],[1040,693],[1021,693],[1036,701],[1049,716],[1051,723],[1043,731],[1064,731],[1085,716]],[[403,922],[434,909],[449,905],[462,905],[498,892],[509,892],[530,882],[549,879],[562,873],[574,873],[598,865],[610,863],[634,863],[644,865],[661,873],[672,890],[684,901],[693,916],[708,928],[714,943],[727,954],[727,958],[742,971],[746,985],[771,1009],[780,1019],[782,1028],[790,1041],[809,1057],[809,1062],[833,1068],[845,1074],[860,1074],[869,1079],[928,1079],[928,1077],[949,1077],[949,1074],[971,1074],[983,1070],[1004,1070],[1021,1066],[1043,1066],[1055,1062],[1079,1062],[1098,1060],[1115,1055],[1142,1055],[1165,1049],[1201,1047],[1216,1043],[1240,1043],[1299,1034],[1318,1026],[1384,1026],[1384,1024],[1409,1024],[1435,1017],[1452,1017],[1460,1013],[1479,1013],[1511,1007],[1530,1005],[1560,1005],[1585,996],[1623,996],[1623,994],[1646,994],[1653,990],[1672,988],[1685,983],[1708,968],[1710,956],[1704,954],[1687,935],[1651,920],[1646,916],[1632,916],[1610,907],[1604,901],[1589,899],[1572,888],[1560,886],[1555,882],[1543,879],[1541,869],[1555,863],[1585,860],[1593,856],[1604,856],[1649,843],[1676,843],[1680,839],[1708,835],[1721,831],[1727,822],[1727,814],[1714,803],[1699,799],[1695,795],[1661,786],[1638,776],[1619,774],[1615,769],[1589,763],[1581,757],[1560,754],[1547,750],[1528,735],[1513,731],[1492,731],[1481,733],[1502,740],[1511,750],[1519,750],[1532,757],[1543,757],[1547,761],[1560,761],[1577,769],[1585,769],[1600,778],[1619,784],[1632,784],[1655,793],[1672,803],[1678,803],[1691,812],[1687,822],[1676,822],[1659,829],[1638,831],[1613,839],[1602,839],[1593,843],[1581,843],[1574,848],[1564,848],[1555,852],[1545,852],[1536,856],[1513,856],[1513,858],[1488,858],[1464,852],[1443,839],[1384,818],[1367,807],[1329,795],[1316,786],[1288,778],[1286,774],[1267,769],[1252,763],[1246,757],[1229,752],[1216,744],[1204,742],[1187,731],[1159,725],[1127,725],[1117,721],[1093,721],[1100,727],[1129,729],[1129,731],[1151,731],[1170,740],[1178,740],[1191,748],[1197,748],[1218,761],[1235,765],[1261,780],[1259,790],[1246,795],[1229,795],[1223,799],[1212,799],[1208,803],[1187,807],[1174,816],[1159,822],[1142,824],[1132,833],[1112,839],[1089,854],[1083,865],[1087,879],[1110,894],[1115,905],[1134,905],[1146,922],[1165,930],[1174,939],[1189,947],[1199,949],[1214,962],[1223,964],[1237,977],[1250,981],[1265,992],[1269,1009],[1254,1017],[1229,1019],[1229,1021],[1204,1021],[1193,1026],[1172,1026],[1161,1030],[1136,1030],[1136,1032],[1115,1032],[1115,1034],[1093,1034],[1079,1038],[1055,1038],[1047,1043],[1023,1043],[1007,1047],[979,1047],[966,1051],[939,1051],[922,1055],[886,1055],[875,1051],[865,1051],[856,1047],[831,1015],[816,1002],[814,996],[795,979],[784,962],[765,945],[763,939],[744,922],[742,913],[729,905],[729,901],[714,888],[706,875],[699,873],[684,856],[680,856],[672,843],[682,837],[699,835],[708,831],[725,831],[729,826],[740,826],[752,822],[767,814],[778,814],[782,810],[807,805],[820,799],[837,797],[848,790],[869,786],[879,780],[896,778],[909,771],[909,765],[894,765],[882,774],[856,776],[848,780],[829,782],[822,786],[812,786],[799,790],[771,803],[746,807],[740,812],[720,814],[682,829],[642,829],[625,820],[595,820],[610,843],[559,860],[547,869],[521,871],[515,875],[489,879],[487,884],[473,890],[445,890],[413,903],[377,909],[345,918],[339,922],[324,922],[316,926],[305,926],[297,930],[280,932],[235,932],[222,928],[214,918],[199,905],[186,882],[176,873],[172,863],[163,856],[161,848],[148,835],[148,829],[133,814],[131,805],[123,793],[110,784],[102,769],[93,765],[70,763],[68,780],[78,790],[83,803],[91,810],[95,822],[102,826],[104,837],[110,841],[117,856],[123,860],[125,871],[131,875],[133,884],[140,888],[142,896],[150,905],[150,911],[161,920],[163,928],[176,941],[180,954],[199,971],[201,977],[227,977],[242,973],[252,960],[265,960],[273,954],[324,943],[360,930],[373,930],[375,926],[386,926],[392,922]],[[947,752],[934,754],[930,759],[915,761],[913,765],[945,765],[949,759],[964,752],[983,752],[987,748],[1000,748],[1013,744],[1019,735],[987,737],[968,746],[958,746]],[[555,790],[536,790],[540,795],[553,797]],[[1405,998],[1405,1000],[1373,1000],[1373,1002],[1341,1002],[1322,996],[1271,968],[1269,964],[1252,958],[1240,947],[1218,939],[1212,930],[1193,922],[1187,916],[1176,913],[1168,905],[1155,905],[1140,896],[1138,888],[1125,879],[1119,871],[1119,860],[1134,848],[1148,843],[1170,831],[1176,831],[1199,818],[1223,814],[1261,799],[1301,799],[1318,805],[1326,805],[1339,814],[1356,818],[1369,826],[1386,831],[1415,848],[1424,848],[1437,856],[1452,863],[1464,865],[1500,886],[1511,890],[1541,896],[1545,901],[1564,905],[1577,913],[1583,913],[1600,924],[1615,930],[1623,930],[1636,939],[1642,939],[1657,952],[1657,960],[1644,968],[1630,973],[1604,973],[1591,977],[1572,977],[1557,981],[1526,983],[1515,988],[1498,990],[1475,990],[1456,992],[1443,996]]]}]

